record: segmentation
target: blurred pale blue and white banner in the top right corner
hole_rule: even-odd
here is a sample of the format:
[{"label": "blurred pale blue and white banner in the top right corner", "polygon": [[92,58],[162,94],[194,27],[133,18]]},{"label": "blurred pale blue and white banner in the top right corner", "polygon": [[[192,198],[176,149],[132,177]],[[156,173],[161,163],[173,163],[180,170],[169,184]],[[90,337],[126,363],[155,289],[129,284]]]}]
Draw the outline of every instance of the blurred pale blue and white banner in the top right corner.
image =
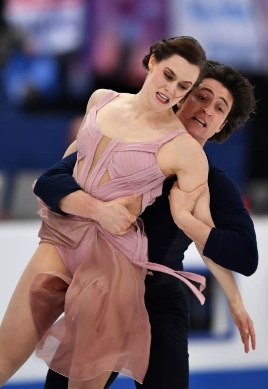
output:
[{"label": "blurred pale blue and white banner in the top right corner", "polygon": [[208,58],[267,71],[267,0],[172,0],[170,10],[171,35],[194,36]]}]

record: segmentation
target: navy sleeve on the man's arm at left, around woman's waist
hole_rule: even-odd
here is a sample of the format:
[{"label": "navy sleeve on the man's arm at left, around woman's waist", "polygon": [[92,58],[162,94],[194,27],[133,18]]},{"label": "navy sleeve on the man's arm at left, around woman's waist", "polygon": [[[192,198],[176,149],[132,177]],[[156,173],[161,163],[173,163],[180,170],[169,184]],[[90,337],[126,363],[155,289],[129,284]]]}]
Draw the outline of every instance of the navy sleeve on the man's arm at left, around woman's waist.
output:
[{"label": "navy sleeve on the man's arm at left, around woman's waist", "polygon": [[64,212],[58,207],[59,200],[76,190],[81,190],[81,187],[72,177],[76,156],[77,152],[74,152],[48,169],[37,179],[33,189],[37,197],[55,212],[61,214],[64,214]]}]

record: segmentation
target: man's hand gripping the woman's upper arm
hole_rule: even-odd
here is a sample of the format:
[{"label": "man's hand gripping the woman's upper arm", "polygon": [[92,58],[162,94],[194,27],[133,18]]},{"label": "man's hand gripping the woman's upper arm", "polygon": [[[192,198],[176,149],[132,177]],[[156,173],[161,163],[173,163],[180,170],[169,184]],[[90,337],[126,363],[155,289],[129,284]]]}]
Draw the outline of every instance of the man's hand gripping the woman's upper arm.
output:
[{"label": "man's hand gripping the woman's upper arm", "polygon": [[181,222],[183,222],[185,216],[192,214],[197,199],[206,188],[206,185],[200,185],[192,192],[184,192],[179,189],[178,182],[174,182],[168,199],[171,215],[178,227],[180,227],[180,225],[182,227],[183,223],[181,224]]}]

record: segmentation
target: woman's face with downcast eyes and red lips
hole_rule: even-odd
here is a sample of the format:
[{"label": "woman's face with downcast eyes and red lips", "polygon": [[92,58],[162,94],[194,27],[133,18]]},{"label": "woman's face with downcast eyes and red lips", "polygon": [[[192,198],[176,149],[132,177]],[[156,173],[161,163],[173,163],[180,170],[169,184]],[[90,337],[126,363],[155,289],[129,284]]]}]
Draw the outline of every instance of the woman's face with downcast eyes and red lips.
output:
[{"label": "woman's face with downcast eyes and red lips", "polygon": [[193,87],[199,73],[197,65],[190,64],[177,54],[161,62],[156,62],[152,55],[146,80],[149,101],[156,110],[172,107]]}]

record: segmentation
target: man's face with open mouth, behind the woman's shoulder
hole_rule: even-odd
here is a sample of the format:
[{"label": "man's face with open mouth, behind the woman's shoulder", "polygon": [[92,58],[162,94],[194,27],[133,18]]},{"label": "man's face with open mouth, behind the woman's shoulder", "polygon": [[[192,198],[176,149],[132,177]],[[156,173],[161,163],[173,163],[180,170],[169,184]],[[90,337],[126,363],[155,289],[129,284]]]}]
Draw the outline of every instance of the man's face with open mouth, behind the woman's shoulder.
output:
[{"label": "man's face with open mouth, behind the woman's shoulder", "polygon": [[176,114],[187,132],[203,147],[226,124],[233,101],[232,94],[221,83],[205,79],[179,106]]}]

